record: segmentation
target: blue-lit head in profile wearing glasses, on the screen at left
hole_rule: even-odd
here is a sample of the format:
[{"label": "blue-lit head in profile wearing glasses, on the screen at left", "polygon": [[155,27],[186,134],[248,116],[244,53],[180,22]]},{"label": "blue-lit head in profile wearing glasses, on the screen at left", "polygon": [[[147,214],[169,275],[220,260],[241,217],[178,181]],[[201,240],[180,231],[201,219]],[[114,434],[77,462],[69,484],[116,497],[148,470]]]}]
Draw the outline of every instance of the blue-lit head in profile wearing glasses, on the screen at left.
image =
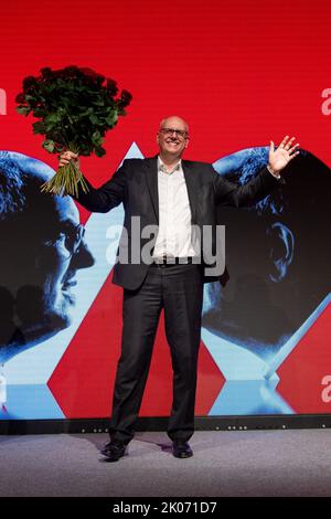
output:
[{"label": "blue-lit head in profile wearing glasses, on the screen at left", "polygon": [[72,322],[76,272],[94,258],[70,197],[43,194],[44,162],[0,151],[0,361]]}]

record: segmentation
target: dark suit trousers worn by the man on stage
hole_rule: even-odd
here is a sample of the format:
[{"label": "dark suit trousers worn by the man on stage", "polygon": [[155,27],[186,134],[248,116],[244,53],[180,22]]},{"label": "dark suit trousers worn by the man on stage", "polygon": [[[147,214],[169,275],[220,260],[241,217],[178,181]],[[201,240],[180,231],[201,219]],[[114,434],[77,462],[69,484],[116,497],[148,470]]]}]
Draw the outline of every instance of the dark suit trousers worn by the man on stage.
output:
[{"label": "dark suit trousers worn by the man on stage", "polygon": [[203,277],[200,265],[152,265],[142,286],[124,290],[121,356],[117,366],[110,437],[129,443],[135,434],[161,309],[173,369],[168,435],[188,441],[194,404]]}]

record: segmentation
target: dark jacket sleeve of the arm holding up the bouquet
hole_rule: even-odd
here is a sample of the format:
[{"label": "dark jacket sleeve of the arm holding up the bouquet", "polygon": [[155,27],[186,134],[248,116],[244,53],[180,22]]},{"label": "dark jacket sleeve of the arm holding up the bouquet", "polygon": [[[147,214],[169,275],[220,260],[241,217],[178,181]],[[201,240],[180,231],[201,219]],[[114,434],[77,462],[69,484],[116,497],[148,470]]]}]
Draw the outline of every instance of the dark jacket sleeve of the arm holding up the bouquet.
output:
[{"label": "dark jacket sleeve of the arm holding up the bouquet", "polygon": [[95,189],[87,179],[85,179],[88,192],[84,193],[82,187],[78,187],[78,197],[72,195],[74,200],[81,203],[85,209],[92,212],[106,213],[124,202],[127,161],[115,172],[110,180],[100,188]]}]

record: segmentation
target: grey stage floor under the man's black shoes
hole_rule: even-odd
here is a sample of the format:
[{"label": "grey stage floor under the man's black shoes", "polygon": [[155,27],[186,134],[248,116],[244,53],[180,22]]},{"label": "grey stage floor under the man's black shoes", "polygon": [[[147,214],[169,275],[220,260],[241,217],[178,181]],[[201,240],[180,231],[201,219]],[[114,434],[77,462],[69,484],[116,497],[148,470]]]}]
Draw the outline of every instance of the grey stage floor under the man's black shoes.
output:
[{"label": "grey stage floor under the man's black shoes", "polygon": [[331,430],[196,432],[177,459],[137,433],[104,462],[106,434],[0,436],[0,496],[331,496]]}]

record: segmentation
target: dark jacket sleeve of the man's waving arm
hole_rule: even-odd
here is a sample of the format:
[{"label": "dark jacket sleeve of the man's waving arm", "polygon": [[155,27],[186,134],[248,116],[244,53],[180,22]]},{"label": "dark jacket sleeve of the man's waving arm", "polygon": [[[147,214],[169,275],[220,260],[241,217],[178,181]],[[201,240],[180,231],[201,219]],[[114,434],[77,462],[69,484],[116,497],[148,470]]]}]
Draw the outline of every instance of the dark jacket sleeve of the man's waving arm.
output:
[{"label": "dark jacket sleeve of the man's waving arm", "polygon": [[214,170],[215,199],[216,204],[220,205],[249,208],[284,183],[282,177],[276,179],[267,168],[263,168],[249,182],[239,187],[224,179]]}]

